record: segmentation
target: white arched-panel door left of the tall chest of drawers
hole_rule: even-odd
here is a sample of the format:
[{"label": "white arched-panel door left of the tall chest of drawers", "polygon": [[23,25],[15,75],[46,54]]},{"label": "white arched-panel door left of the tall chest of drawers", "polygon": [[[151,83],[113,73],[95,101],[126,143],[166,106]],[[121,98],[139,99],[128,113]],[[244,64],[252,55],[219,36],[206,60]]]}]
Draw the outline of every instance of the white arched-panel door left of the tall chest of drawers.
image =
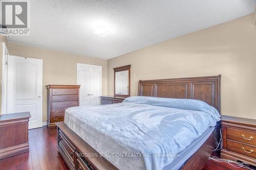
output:
[{"label": "white arched-panel door left of the tall chest of drawers", "polygon": [[29,111],[29,129],[42,127],[42,60],[8,56],[7,69],[7,113]]}]

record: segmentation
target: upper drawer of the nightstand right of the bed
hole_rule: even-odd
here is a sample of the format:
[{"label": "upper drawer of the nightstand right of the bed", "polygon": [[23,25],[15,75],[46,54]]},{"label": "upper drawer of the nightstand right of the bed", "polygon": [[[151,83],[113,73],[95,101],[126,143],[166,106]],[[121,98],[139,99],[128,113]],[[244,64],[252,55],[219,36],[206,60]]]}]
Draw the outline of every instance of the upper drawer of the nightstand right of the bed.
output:
[{"label": "upper drawer of the nightstand right of the bed", "polygon": [[256,146],[256,133],[227,128],[227,138]]}]

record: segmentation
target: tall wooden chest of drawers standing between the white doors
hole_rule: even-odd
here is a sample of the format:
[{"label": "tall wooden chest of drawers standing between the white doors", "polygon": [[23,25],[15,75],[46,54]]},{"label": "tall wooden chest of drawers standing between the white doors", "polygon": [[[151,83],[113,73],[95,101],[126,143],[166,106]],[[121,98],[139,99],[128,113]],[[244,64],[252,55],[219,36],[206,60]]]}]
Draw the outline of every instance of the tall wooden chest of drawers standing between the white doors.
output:
[{"label": "tall wooden chest of drawers standing between the white doors", "polygon": [[47,85],[49,128],[55,128],[56,122],[64,120],[66,109],[79,106],[79,88],[80,85]]}]

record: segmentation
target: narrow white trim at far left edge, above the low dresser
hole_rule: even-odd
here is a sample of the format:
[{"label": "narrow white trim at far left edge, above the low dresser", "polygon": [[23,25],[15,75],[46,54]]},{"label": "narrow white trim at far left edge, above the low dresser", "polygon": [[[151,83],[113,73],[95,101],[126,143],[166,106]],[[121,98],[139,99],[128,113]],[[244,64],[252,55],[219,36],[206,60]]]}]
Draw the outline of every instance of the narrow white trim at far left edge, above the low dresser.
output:
[{"label": "narrow white trim at far left edge, above the low dresser", "polygon": [[[7,64],[6,62],[8,61],[9,52],[5,42],[3,42],[1,45],[2,45],[2,80],[1,80],[2,109],[1,109],[1,112],[2,114],[6,114],[7,113]],[[7,55],[6,55],[6,50],[7,50]]]}]

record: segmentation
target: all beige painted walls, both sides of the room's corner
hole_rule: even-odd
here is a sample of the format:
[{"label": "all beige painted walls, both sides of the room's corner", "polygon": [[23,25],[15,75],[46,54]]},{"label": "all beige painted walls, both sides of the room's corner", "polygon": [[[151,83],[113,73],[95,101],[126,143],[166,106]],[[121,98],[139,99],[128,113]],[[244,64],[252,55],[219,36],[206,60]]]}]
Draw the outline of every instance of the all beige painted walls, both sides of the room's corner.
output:
[{"label": "all beige painted walls, both sides of the room's corner", "polygon": [[[3,36],[0,36],[0,41],[7,42]],[[256,95],[256,26],[253,14],[108,61],[13,43],[7,45],[11,55],[44,60],[44,122],[47,120],[45,85],[76,84],[76,63],[102,66],[103,95],[113,94],[113,68],[127,64],[132,64],[132,95],[137,94],[140,79],[222,74],[222,114],[256,119],[254,109],[256,103],[256,98],[254,98]],[[0,55],[2,56],[2,46]],[[0,77],[2,77],[2,57]]]}]

